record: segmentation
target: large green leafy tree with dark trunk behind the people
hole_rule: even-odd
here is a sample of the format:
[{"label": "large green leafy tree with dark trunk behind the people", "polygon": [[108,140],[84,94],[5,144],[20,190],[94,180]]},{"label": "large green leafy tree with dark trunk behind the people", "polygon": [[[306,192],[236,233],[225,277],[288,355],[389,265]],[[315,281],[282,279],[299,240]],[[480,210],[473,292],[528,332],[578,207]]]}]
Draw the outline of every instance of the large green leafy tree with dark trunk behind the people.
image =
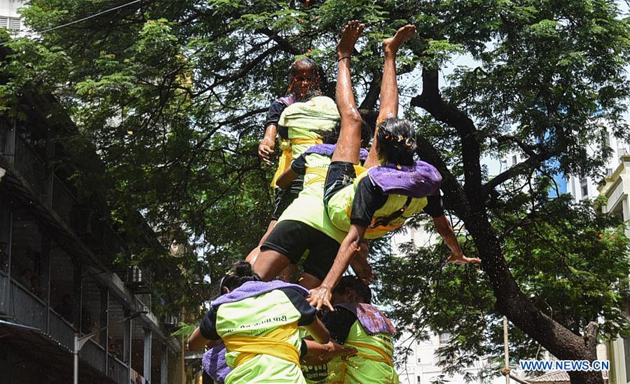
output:
[{"label": "large green leafy tree with dark trunk behind the people", "polygon": [[[30,4],[23,14],[36,31],[112,6],[87,0]],[[353,59],[357,93],[364,96],[360,107],[368,110],[378,102],[382,37],[406,22],[416,25],[418,34],[399,60],[399,73],[421,74],[418,83],[402,89],[404,95],[422,92],[411,99],[406,114],[418,123],[418,155],[444,177],[445,206],[465,224],[469,253],[483,260],[481,276],[472,268],[447,268],[439,272],[439,286],[411,285],[444,295],[448,284],[483,282],[477,296],[463,295],[461,302],[451,297],[437,314],[425,313],[427,321],[444,327],[450,308],[460,306],[471,321],[502,314],[523,332],[523,340],[527,335],[560,359],[594,359],[594,337],[584,334],[584,324],[597,320],[598,303],[552,315],[530,296],[549,287],[554,292],[573,287],[574,275],[589,282],[620,276],[627,268],[622,257],[601,266],[584,259],[610,259],[610,249],[623,249],[623,240],[604,235],[609,240],[564,248],[573,245],[562,238],[565,231],[605,233],[605,219],[564,200],[532,195],[542,187],[523,193],[507,186],[537,172],[596,175],[610,153],[597,146],[590,154],[587,147],[601,144],[607,126],[618,137],[628,136],[622,114],[629,95],[624,72],[629,26],[611,1],[144,0],[8,44],[13,54],[3,71],[10,81],[0,92],[5,106],[24,89],[56,95],[102,155],[112,180],[112,188],[102,193],[114,217],[140,211],[152,226],[176,233],[180,241],[193,239],[196,252],[179,263],[195,275],[214,277],[253,247],[266,225],[269,170],[261,168],[254,148],[268,102],[285,92],[289,63],[304,53],[322,64],[325,90],[334,89],[334,45],[350,19],[368,24]],[[454,54],[470,55],[479,64],[458,68],[440,88],[439,71]],[[489,179],[481,158],[514,149],[527,159]],[[575,217],[587,224],[566,227]],[[532,234],[528,218],[545,241],[523,238]],[[535,240],[535,247],[519,247],[525,240]],[[571,256],[552,258],[555,248]],[[512,266],[532,249],[539,249],[537,261],[549,261],[545,265],[553,268],[547,277],[534,273],[535,263]],[[405,274],[418,277],[400,263],[425,270],[430,260],[385,256],[383,262],[397,273],[381,274],[383,286],[399,284]],[[551,279],[560,275],[566,277]],[[614,333],[622,327],[615,315],[624,294],[620,285],[577,287],[589,297],[605,291],[603,329]],[[190,299],[204,294],[198,291]],[[577,303],[577,296],[570,298]],[[619,327],[613,326],[617,322]],[[481,343],[480,335],[468,336]],[[601,382],[592,372],[570,376],[576,383]]]}]

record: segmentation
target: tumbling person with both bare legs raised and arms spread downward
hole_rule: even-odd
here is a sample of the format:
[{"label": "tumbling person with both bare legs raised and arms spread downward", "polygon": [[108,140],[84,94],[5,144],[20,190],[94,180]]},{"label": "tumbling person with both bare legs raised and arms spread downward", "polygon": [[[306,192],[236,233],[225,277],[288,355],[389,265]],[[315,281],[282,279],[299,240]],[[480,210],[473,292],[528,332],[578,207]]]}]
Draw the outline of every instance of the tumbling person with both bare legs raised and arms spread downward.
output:
[{"label": "tumbling person with both bare legs raised and arms spread downward", "polygon": [[[364,238],[380,238],[399,228],[406,219],[424,210],[434,219],[437,231],[451,248],[449,262],[479,262],[464,256],[451,224],[444,216],[439,198],[441,175],[432,165],[413,159],[416,131],[409,121],[397,118],[398,85],[396,81],[397,51],[416,28],[406,25],[395,36],[383,41],[385,65],[381,85],[374,143],[365,165],[371,167],[359,174],[360,123],[352,83],[350,60],[352,50],[364,25],[348,22],[337,46],[339,60],[336,101],[341,114],[341,134],[329,166],[324,186],[324,205],[330,221],[348,235],[341,243],[333,266],[324,281],[311,291],[308,301],[317,309],[328,306],[331,290],[361,249]],[[428,196],[428,198],[427,198]]]}]

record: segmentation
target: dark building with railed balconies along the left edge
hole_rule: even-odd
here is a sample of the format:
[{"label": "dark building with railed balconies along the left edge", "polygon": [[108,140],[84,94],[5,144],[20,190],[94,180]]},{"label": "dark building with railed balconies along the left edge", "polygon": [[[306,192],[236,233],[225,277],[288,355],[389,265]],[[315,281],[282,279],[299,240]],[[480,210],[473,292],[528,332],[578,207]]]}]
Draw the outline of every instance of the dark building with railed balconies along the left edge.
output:
[{"label": "dark building with railed balconies along the left edge", "polygon": [[153,313],[151,272],[115,266],[125,240],[70,178],[74,125],[48,107],[28,95],[26,119],[0,116],[0,381],[70,383],[81,338],[79,383],[177,382],[182,346]]}]

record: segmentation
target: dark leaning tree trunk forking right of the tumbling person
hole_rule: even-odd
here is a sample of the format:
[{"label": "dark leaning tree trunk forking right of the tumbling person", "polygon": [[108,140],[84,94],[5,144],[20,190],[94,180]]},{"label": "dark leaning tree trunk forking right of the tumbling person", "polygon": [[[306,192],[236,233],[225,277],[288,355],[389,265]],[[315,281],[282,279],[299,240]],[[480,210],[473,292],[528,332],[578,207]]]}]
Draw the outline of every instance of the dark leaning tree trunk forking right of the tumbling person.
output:
[{"label": "dark leaning tree trunk forking right of the tumbling person", "polygon": [[[574,334],[535,308],[514,281],[503,257],[498,235],[488,219],[481,177],[479,131],[464,111],[442,99],[436,68],[423,69],[423,92],[413,97],[411,106],[422,107],[435,120],[455,128],[460,138],[465,178],[463,186],[448,170],[441,154],[424,137],[418,137],[418,153],[442,174],[445,205],[463,220],[479,250],[481,269],[486,273],[496,298],[495,308],[558,359],[592,362],[596,359],[596,331],[593,333],[590,327],[584,338]],[[572,371],[569,376],[571,383],[603,383],[601,372],[597,371]]]}]

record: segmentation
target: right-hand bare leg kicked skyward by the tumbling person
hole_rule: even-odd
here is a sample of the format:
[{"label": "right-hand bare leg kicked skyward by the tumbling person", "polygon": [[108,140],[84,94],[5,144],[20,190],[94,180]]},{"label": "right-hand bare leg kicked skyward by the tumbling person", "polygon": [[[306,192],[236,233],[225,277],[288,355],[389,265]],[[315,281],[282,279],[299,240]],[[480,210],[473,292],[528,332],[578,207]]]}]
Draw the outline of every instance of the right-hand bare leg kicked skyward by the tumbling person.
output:
[{"label": "right-hand bare leg kicked skyward by the tumbling person", "polygon": [[378,118],[376,118],[376,130],[374,130],[372,147],[364,164],[364,167],[366,168],[378,165],[378,154],[376,153],[376,133],[378,132],[378,123],[381,123],[381,121],[387,118],[398,117],[396,54],[398,53],[398,48],[402,46],[402,43],[415,33],[416,27],[413,25],[405,25],[404,27],[398,29],[393,37],[383,40],[385,65],[383,67],[383,81],[381,82],[381,106],[378,109]]}]

